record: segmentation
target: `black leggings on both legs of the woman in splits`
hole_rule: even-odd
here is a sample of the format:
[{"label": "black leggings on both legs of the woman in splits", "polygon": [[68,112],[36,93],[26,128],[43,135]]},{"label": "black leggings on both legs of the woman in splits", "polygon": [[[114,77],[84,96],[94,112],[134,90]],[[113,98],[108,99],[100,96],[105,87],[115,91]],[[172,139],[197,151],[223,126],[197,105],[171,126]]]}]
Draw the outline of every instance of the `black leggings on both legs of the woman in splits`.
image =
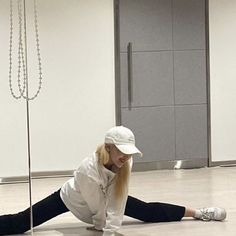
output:
[{"label": "black leggings on both legs of the woman in splits", "polygon": [[[40,225],[57,215],[68,212],[60,197],[60,189],[33,205],[33,226]],[[128,197],[125,215],[144,222],[179,221],[185,208],[171,204],[146,203],[134,197]],[[17,214],[0,216],[0,235],[22,234],[30,229],[30,209]]]}]

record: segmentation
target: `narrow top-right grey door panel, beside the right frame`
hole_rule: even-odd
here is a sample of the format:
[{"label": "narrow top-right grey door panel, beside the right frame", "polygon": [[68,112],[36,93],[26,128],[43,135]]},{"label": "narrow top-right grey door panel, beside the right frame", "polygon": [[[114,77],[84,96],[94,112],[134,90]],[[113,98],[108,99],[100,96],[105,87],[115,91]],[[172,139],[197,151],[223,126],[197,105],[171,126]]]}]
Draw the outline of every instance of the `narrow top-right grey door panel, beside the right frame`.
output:
[{"label": "narrow top-right grey door panel, beside the right frame", "polygon": [[205,49],[205,0],[173,0],[174,49]]}]

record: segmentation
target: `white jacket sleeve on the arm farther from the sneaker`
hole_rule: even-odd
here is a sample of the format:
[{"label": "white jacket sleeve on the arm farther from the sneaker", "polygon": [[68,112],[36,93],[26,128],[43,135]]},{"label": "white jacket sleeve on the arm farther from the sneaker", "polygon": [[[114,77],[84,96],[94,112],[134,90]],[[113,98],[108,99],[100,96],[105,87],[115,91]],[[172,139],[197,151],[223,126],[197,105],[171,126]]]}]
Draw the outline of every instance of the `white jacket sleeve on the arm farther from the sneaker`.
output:
[{"label": "white jacket sleeve on the arm farther from the sneaker", "polygon": [[92,212],[92,221],[97,230],[102,230],[106,222],[106,203],[105,195],[101,190],[99,184],[83,173],[76,173],[75,181],[87,203],[90,211]]}]

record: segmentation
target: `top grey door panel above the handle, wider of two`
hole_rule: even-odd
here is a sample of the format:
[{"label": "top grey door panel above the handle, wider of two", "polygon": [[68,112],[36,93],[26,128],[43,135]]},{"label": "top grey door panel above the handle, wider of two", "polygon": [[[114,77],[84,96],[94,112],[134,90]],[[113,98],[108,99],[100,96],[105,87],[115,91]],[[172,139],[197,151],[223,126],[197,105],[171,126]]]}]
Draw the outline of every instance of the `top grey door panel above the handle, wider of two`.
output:
[{"label": "top grey door panel above the handle, wider of two", "polygon": [[172,49],[171,11],[171,0],[120,0],[121,51]]}]

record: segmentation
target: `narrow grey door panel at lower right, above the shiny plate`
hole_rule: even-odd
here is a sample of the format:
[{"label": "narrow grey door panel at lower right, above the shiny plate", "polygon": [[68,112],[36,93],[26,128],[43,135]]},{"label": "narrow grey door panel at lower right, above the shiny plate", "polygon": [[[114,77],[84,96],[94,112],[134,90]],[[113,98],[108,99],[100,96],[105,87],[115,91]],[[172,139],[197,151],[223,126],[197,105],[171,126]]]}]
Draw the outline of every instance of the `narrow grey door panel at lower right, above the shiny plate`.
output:
[{"label": "narrow grey door panel at lower right, above the shiny plate", "polygon": [[175,108],[176,159],[207,158],[207,106]]}]

